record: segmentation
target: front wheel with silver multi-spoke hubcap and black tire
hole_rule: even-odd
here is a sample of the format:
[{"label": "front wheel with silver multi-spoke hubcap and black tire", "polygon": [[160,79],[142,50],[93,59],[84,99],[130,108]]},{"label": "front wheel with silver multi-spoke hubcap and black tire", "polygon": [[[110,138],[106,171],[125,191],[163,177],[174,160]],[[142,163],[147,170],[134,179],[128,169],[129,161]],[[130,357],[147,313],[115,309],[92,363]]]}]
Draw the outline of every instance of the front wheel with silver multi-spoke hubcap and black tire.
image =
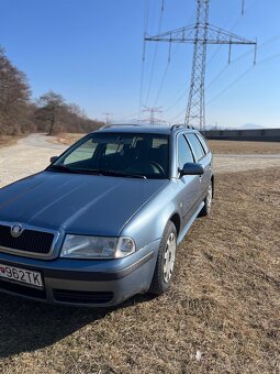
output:
[{"label": "front wheel with silver multi-spoke hubcap and black tire", "polygon": [[157,263],[149,293],[163,295],[169,290],[175,272],[176,249],[177,230],[172,222],[168,222],[159,243]]}]

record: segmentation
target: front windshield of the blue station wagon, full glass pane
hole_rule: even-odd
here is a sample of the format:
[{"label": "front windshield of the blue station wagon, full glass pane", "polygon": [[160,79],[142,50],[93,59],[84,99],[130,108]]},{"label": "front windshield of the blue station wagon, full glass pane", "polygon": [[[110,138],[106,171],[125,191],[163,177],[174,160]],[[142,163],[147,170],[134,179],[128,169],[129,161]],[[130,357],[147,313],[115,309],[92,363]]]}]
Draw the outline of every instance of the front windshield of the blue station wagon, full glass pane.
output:
[{"label": "front windshield of the blue station wagon, full glass pane", "polygon": [[169,177],[169,136],[152,133],[92,133],[47,170],[135,178]]}]

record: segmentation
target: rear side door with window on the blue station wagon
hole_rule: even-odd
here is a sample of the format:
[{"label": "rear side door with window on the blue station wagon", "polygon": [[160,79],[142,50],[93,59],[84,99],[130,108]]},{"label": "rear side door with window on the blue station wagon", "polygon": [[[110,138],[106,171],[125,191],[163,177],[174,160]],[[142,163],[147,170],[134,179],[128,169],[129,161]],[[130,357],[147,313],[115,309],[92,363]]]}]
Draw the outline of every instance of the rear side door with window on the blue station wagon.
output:
[{"label": "rear side door with window on the blue station wagon", "polygon": [[199,185],[200,200],[203,200],[206,195],[208,187],[211,183],[212,156],[211,153],[209,152],[209,148],[206,147],[206,144],[204,146],[202,145],[203,139],[200,134],[187,133],[187,140],[192,148],[195,162],[202,165],[204,169],[204,174],[200,176]]}]

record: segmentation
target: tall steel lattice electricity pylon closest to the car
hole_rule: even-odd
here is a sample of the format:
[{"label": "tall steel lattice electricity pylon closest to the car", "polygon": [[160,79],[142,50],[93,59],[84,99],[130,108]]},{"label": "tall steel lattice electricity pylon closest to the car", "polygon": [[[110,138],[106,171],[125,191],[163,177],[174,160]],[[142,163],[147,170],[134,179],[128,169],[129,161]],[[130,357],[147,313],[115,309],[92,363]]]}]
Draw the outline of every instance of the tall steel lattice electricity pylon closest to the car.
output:
[{"label": "tall steel lattice electricity pylon closest to the car", "polygon": [[[205,129],[205,101],[204,101],[204,81],[206,68],[206,52],[209,44],[227,44],[229,45],[228,63],[231,63],[233,44],[255,45],[255,58],[257,42],[246,40],[225,30],[209,24],[209,6],[210,0],[197,0],[197,22],[194,25],[168,31],[166,33],[146,36],[148,42],[168,42],[169,51],[171,43],[190,43],[193,44],[192,74],[189,91],[188,106],[186,111],[186,125],[199,128],[201,131]],[[244,6],[243,6],[244,12]]]}]

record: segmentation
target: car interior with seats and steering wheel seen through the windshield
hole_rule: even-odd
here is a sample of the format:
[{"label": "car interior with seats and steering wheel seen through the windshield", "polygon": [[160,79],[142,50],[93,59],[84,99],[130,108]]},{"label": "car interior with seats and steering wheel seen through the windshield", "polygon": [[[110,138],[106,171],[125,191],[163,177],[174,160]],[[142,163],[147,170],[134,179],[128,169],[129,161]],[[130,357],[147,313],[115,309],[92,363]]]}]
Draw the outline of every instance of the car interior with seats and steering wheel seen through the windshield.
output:
[{"label": "car interior with seats and steering wheel seen through the windshield", "polygon": [[[92,140],[76,148],[64,160],[64,165],[78,169],[120,172],[146,177],[168,178],[168,138],[131,136],[105,141]],[[110,142],[111,141],[111,142]],[[86,145],[86,144],[85,144]],[[86,158],[85,158],[86,157]]]}]

